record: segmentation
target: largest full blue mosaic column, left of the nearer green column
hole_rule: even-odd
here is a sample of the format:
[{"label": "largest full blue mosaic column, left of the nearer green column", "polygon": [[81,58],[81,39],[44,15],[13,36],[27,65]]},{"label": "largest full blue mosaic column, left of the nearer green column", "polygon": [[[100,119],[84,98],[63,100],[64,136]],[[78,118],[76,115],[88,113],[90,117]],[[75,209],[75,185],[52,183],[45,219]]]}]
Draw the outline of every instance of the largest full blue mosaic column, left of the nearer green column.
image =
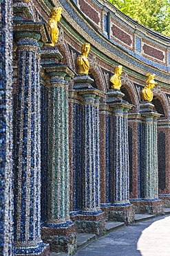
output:
[{"label": "largest full blue mosaic column, left of the nearer green column", "polygon": [[50,255],[41,240],[41,35],[17,32],[18,86],[14,144],[14,253]]}]

